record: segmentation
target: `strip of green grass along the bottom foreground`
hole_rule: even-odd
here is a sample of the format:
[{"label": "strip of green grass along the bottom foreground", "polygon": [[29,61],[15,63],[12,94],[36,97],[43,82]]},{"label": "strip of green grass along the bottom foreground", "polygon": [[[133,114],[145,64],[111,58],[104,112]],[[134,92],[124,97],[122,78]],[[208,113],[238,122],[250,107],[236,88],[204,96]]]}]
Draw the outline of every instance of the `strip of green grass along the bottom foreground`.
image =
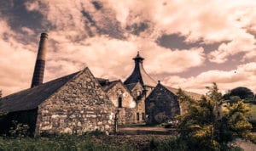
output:
[{"label": "strip of green grass along the bottom foreground", "polygon": [[159,150],[160,144],[170,138],[153,135],[0,137],[0,150]]}]

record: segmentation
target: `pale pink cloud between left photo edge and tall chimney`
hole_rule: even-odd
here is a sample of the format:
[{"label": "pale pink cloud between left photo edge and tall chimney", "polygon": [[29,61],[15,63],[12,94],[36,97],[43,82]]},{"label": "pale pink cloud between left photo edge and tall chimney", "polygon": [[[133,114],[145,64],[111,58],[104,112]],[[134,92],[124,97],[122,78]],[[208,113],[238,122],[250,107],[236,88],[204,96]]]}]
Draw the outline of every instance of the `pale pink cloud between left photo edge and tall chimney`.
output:
[{"label": "pale pink cloud between left photo edge and tall chimney", "polygon": [[16,40],[19,34],[12,31],[6,20],[0,20],[0,89],[3,95],[29,87],[36,53],[33,43],[23,44]]}]

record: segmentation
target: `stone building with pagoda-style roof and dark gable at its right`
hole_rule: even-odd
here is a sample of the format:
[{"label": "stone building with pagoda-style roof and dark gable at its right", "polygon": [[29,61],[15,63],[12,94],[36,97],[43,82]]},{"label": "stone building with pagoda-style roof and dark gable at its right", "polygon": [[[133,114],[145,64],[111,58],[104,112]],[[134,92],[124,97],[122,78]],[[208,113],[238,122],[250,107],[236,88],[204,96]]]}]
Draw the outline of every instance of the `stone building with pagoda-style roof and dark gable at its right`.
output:
[{"label": "stone building with pagoda-style roof and dark gable at its right", "polygon": [[[166,120],[173,120],[175,115],[183,114],[186,105],[177,100],[178,89],[157,84],[143,68],[143,57],[137,53],[133,59],[134,70],[125,80],[125,86],[137,102],[137,123],[147,122],[158,124]],[[200,99],[199,94],[186,92],[190,97]]]}]

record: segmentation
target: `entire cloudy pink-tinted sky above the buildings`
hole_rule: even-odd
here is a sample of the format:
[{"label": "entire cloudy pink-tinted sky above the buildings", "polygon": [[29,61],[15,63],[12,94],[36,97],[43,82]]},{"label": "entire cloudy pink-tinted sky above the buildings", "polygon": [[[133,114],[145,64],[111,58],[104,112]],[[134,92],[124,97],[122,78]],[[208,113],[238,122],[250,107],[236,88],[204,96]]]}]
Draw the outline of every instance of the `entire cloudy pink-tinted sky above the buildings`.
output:
[{"label": "entire cloudy pink-tinted sky above the buildings", "polygon": [[168,87],[256,92],[255,0],[2,0],[3,96],[31,86],[42,32],[44,82],[86,66],[125,81],[139,51],[148,75]]}]

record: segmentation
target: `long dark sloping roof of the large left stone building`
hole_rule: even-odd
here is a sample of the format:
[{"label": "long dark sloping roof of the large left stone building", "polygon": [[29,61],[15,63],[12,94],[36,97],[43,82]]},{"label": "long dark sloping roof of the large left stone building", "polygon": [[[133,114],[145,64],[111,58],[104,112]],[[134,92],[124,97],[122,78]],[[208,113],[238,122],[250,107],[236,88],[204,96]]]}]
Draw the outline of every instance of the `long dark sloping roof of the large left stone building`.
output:
[{"label": "long dark sloping roof of the large left stone building", "polygon": [[61,88],[67,81],[77,76],[79,72],[68,76],[48,81],[37,87],[32,87],[20,92],[15,92],[9,96],[2,98],[0,111],[15,112],[29,109],[36,109],[40,103],[49,98],[51,94]]}]

